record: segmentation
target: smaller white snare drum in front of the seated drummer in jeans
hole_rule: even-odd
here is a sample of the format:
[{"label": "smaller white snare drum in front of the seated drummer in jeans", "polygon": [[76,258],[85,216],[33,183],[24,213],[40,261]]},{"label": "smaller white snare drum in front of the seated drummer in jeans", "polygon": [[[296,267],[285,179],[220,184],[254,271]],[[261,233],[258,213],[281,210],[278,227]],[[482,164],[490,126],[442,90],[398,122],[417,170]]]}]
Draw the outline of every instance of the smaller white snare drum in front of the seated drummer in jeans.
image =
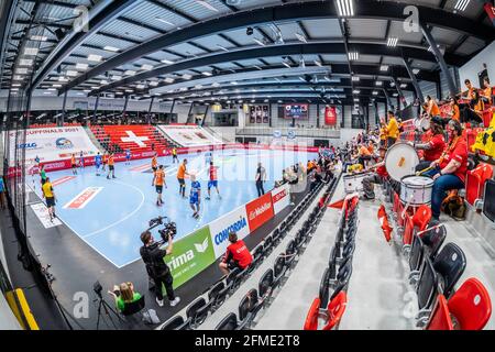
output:
[{"label": "smaller white snare drum in front of the seated drummer in jeans", "polygon": [[406,176],[400,180],[400,200],[410,206],[431,204],[433,180],[425,176]]}]

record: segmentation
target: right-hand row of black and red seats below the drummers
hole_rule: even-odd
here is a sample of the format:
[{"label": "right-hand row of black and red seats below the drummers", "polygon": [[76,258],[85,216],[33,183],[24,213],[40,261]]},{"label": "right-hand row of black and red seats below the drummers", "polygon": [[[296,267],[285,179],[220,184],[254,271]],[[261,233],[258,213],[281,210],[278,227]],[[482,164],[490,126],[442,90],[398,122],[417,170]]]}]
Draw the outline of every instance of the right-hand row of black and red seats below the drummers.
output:
[{"label": "right-hand row of black and red seats below the drummers", "polygon": [[[417,294],[416,326],[426,329],[481,330],[492,314],[490,295],[476,278],[468,278],[458,290],[466,257],[455,243],[447,243],[444,224],[431,223],[431,209],[420,206],[414,215],[404,211],[393,195],[396,228],[407,257],[408,282]],[[443,246],[442,246],[443,245]],[[450,305],[450,307],[449,307]],[[449,314],[447,314],[449,312]]]}]

